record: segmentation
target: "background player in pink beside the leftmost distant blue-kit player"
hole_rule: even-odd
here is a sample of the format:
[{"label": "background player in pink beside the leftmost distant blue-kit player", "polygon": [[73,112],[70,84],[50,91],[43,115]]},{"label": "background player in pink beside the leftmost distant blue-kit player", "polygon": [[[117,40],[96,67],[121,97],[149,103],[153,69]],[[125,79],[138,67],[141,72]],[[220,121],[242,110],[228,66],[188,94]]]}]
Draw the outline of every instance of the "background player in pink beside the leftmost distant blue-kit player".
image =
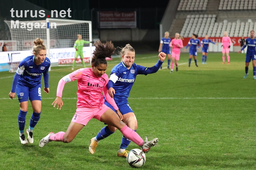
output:
[{"label": "background player in pink beside the leftmost distant blue-kit player", "polygon": [[172,63],[171,63],[171,73],[173,72],[173,64],[175,62],[176,71],[178,71],[178,61],[180,60],[181,48],[183,48],[183,42],[180,39],[180,34],[176,33],[175,38],[172,39],[170,43],[170,47],[172,47]]}]

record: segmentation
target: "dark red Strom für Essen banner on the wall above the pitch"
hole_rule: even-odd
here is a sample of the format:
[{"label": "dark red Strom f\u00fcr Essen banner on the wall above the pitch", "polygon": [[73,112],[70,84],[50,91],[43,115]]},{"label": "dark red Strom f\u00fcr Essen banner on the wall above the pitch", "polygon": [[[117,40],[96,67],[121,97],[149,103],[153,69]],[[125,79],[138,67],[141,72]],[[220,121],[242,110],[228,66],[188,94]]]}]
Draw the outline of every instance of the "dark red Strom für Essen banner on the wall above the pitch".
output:
[{"label": "dark red Strom f\u00fcr Essen banner on the wall above the pitch", "polygon": [[136,11],[101,11],[98,13],[100,28],[136,28]]}]

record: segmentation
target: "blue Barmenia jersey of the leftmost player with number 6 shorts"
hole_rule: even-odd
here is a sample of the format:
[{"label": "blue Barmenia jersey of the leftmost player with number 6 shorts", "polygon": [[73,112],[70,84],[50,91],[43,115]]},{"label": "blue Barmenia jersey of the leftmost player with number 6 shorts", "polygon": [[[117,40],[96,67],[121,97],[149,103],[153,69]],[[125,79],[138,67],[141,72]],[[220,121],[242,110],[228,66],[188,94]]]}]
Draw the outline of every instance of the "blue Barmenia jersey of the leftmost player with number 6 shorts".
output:
[{"label": "blue Barmenia jersey of the leftmost player with number 6 shorts", "polygon": [[[31,55],[24,58],[20,62],[19,69],[23,70],[23,73],[19,77],[18,84],[21,84],[27,87],[35,87],[41,84],[42,75],[43,73],[48,72],[51,62],[46,57],[42,64],[36,65],[34,63],[34,60],[35,60],[35,56]],[[45,82],[45,87],[48,88],[48,82],[47,82],[47,85]]]}]

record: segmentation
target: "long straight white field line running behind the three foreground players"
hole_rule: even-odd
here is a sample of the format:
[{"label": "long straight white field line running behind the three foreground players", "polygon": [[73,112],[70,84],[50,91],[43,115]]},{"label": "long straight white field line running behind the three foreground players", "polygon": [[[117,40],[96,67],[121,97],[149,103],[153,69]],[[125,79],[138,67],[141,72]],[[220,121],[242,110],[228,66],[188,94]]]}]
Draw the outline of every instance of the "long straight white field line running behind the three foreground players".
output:
[{"label": "long straight white field line running behind the three foreground players", "polygon": [[[0,100],[5,100],[5,99],[10,99],[10,98],[0,98]],[[17,99],[17,98],[14,98]],[[43,98],[43,99],[56,99],[56,98]],[[77,99],[77,98],[62,98],[62,99]],[[151,100],[156,100],[156,99],[241,99],[241,100],[251,100],[251,99],[256,99],[256,98],[243,98],[243,97],[194,97],[194,98],[189,98],[189,97],[139,97],[139,98],[128,98],[128,99],[151,99]]]}]

